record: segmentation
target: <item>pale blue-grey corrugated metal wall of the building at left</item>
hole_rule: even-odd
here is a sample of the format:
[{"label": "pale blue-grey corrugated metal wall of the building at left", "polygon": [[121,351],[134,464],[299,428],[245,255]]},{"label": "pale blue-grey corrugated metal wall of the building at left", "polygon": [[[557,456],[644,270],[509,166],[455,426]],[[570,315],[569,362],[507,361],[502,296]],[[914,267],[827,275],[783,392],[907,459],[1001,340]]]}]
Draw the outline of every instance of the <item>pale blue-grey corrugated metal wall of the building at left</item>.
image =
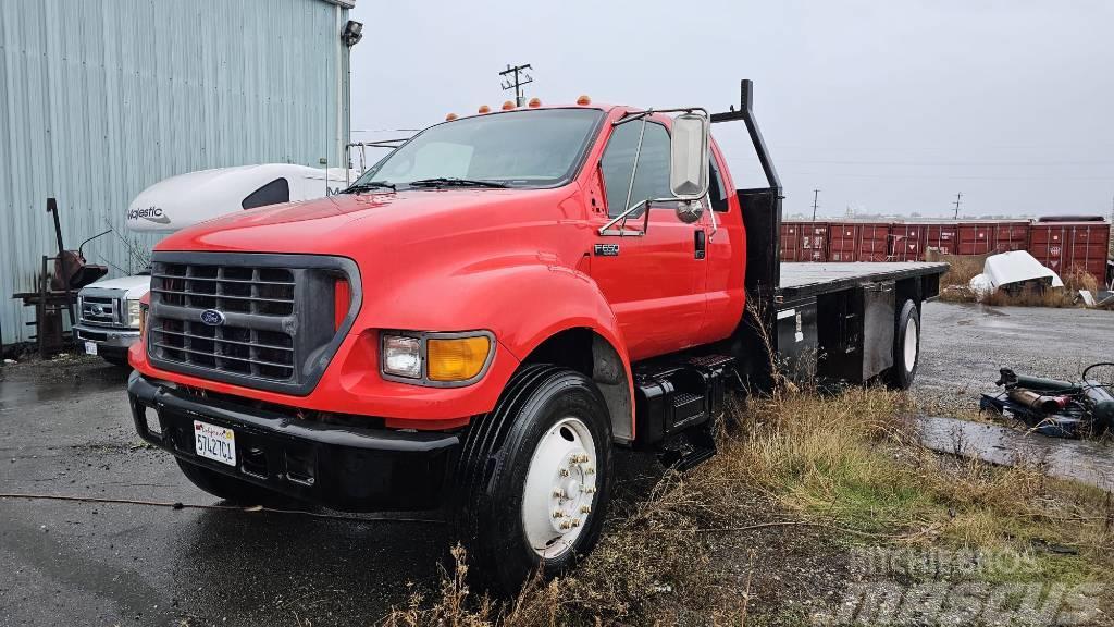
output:
[{"label": "pale blue-grey corrugated metal wall of the building at left", "polygon": [[[0,325],[27,339],[41,255],[127,231],[131,199],[168,176],[252,163],[338,165],[348,104],[340,31],[322,0],[3,0],[0,2]],[[339,122],[341,125],[339,126]],[[92,263],[135,270],[115,235]]]}]

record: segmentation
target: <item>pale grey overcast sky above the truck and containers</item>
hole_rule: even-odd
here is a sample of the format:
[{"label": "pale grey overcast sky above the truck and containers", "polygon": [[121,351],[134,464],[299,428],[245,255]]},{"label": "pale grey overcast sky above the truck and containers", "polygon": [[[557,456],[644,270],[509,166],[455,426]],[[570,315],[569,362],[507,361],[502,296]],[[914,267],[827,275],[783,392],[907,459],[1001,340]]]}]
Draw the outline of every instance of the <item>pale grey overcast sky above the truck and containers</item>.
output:
[{"label": "pale grey overcast sky above the truck and containers", "polygon": [[[358,0],[353,138],[528,96],[755,112],[786,214],[1104,213],[1114,199],[1114,1]],[[735,182],[762,180],[716,125]]]}]

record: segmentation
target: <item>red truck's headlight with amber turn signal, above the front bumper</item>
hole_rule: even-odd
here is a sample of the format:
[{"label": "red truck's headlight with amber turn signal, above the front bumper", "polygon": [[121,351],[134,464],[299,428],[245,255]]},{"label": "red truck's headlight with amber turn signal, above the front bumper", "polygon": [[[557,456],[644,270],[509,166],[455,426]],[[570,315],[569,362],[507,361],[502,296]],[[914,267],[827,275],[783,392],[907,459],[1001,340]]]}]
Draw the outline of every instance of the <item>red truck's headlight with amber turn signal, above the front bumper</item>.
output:
[{"label": "red truck's headlight with amber turn signal, above the front bumper", "polygon": [[419,385],[468,385],[491,361],[489,331],[383,335],[382,370]]}]

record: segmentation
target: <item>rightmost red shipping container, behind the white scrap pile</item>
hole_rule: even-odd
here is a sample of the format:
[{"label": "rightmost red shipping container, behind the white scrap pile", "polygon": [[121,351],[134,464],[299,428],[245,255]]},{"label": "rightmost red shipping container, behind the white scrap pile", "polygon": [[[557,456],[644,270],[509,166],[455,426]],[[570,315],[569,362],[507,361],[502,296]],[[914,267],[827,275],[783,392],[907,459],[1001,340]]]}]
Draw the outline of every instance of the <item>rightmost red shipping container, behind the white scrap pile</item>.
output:
[{"label": "rightmost red shipping container, behind the white scrap pile", "polygon": [[1029,226],[1029,254],[1056,273],[1082,270],[1103,281],[1111,225],[1105,222],[1037,222]]}]

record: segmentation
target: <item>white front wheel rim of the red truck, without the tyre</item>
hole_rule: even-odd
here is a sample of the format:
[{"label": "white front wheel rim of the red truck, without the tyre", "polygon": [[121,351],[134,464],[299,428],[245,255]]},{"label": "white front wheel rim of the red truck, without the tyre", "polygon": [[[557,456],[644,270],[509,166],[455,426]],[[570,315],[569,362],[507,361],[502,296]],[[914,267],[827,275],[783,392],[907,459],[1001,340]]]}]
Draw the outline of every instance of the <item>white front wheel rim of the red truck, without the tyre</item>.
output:
[{"label": "white front wheel rim of the red truck, without the tyre", "polygon": [[565,554],[588,524],[596,499],[596,443],[571,416],[541,436],[526,471],[522,527],[543,559]]}]

